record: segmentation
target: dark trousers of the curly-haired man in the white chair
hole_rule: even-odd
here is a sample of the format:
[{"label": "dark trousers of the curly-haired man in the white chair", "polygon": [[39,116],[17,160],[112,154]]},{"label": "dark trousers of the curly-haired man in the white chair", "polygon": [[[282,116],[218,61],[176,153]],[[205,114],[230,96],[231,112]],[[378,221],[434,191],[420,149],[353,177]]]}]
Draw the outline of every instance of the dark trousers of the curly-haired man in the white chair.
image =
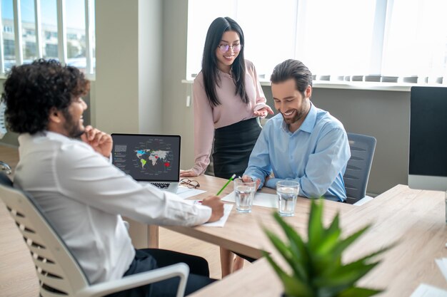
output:
[{"label": "dark trousers of the curly-haired man in the white chair", "polygon": [[[185,263],[189,266],[189,276],[186,283],[185,295],[209,285],[214,279],[209,278],[208,262],[199,256],[166,251],[164,249],[138,249],[135,259],[124,276],[150,271],[159,267],[177,263]],[[176,296],[179,287],[179,278],[169,278],[147,286],[114,293],[109,297],[170,297]]]}]

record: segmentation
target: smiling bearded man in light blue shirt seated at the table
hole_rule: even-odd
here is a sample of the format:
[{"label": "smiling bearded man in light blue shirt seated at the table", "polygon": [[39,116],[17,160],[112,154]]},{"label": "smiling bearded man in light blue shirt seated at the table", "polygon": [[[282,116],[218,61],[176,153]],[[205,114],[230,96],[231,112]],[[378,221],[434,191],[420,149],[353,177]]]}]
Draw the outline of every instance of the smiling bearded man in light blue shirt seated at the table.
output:
[{"label": "smiling bearded man in light blue shirt seated at the table", "polygon": [[243,178],[271,188],[295,180],[300,196],[345,201],[348,136],[340,121],[311,103],[311,71],[300,61],[284,61],[273,70],[271,91],[280,114],[263,127]]}]

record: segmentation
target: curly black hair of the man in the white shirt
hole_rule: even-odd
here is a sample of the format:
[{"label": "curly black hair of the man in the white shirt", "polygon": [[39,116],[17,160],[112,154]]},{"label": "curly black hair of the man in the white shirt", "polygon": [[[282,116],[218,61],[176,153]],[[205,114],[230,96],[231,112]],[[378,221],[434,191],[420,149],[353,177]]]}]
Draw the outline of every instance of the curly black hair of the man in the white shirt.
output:
[{"label": "curly black hair of the man in the white shirt", "polygon": [[66,112],[71,100],[89,93],[90,81],[78,68],[56,60],[39,59],[14,66],[4,83],[1,100],[6,103],[9,130],[35,134],[47,129],[49,112]]}]

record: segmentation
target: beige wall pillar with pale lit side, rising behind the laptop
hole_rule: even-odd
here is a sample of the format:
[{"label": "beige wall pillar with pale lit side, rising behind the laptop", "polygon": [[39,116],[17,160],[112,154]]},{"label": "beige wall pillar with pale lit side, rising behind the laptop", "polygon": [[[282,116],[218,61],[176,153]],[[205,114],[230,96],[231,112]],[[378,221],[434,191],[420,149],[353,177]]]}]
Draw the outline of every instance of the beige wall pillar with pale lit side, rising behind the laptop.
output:
[{"label": "beige wall pillar with pale lit side, rising behind the laptop", "polygon": [[161,0],[96,1],[94,123],[106,132],[160,132]]}]

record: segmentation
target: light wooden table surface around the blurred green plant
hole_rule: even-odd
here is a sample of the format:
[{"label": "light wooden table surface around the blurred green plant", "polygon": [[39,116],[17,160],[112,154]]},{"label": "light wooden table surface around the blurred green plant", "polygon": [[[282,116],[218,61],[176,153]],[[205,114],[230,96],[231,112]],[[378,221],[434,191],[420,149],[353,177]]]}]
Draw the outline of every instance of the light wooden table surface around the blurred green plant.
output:
[{"label": "light wooden table surface around the blurred green plant", "polygon": [[[194,199],[216,193],[226,182],[210,176],[196,177],[201,189],[207,192]],[[221,194],[224,197],[233,185]],[[274,193],[272,189],[263,192]],[[310,200],[298,197],[295,217],[286,218],[298,232],[306,234]],[[278,229],[271,213],[274,209],[253,206],[251,214],[239,214],[233,207],[223,228],[171,226],[169,229],[253,258],[261,256],[260,249],[276,251],[263,234],[261,226]],[[371,229],[344,254],[353,261],[395,241],[398,244],[381,256],[382,263],[364,276],[360,286],[386,289],[377,296],[410,296],[420,283],[447,290],[447,281],[435,259],[447,257],[447,225],[444,193],[421,191],[397,185],[363,206],[353,206],[325,200],[324,220],[329,222],[336,212],[341,214],[343,234],[353,233],[366,224]],[[281,296],[283,289],[276,274],[265,259],[259,259],[241,271],[227,276],[191,296]]]}]

